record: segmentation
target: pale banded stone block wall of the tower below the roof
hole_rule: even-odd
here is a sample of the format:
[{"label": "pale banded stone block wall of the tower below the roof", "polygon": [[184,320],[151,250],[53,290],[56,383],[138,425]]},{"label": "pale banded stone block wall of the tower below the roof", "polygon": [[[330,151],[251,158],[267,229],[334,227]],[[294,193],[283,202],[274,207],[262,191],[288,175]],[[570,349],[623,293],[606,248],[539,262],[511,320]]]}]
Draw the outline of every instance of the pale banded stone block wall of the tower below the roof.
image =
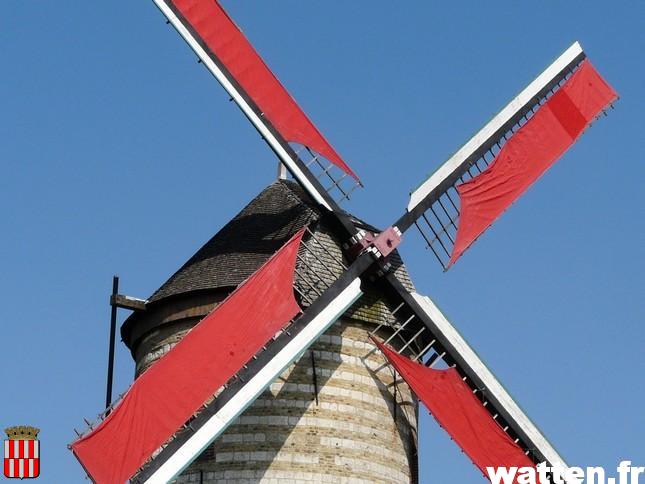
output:
[{"label": "pale banded stone block wall of the tower below the roof", "polygon": [[[181,326],[149,338],[137,368],[172,347]],[[336,322],[176,483],[415,482],[417,402],[374,351],[373,328]]]}]

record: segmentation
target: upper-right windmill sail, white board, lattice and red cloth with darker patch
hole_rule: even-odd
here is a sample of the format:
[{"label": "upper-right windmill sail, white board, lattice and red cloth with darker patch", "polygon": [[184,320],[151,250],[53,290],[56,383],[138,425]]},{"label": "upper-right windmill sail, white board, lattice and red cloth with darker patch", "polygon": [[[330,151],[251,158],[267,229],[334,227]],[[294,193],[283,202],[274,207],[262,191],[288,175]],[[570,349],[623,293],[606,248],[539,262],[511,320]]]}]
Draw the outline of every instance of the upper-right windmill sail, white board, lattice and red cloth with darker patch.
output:
[{"label": "upper-right windmill sail, white board, lattice and red cloth with darker patch", "polygon": [[577,42],[412,192],[417,226],[444,269],[616,99]]}]

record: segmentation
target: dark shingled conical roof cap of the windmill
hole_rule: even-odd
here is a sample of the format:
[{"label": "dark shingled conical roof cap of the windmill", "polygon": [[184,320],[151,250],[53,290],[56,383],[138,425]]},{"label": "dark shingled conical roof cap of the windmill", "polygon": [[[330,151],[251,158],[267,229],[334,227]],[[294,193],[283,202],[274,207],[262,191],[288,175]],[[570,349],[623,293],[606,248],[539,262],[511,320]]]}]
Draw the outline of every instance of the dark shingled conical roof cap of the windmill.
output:
[{"label": "dark shingled conical roof cap of the windmill", "polygon": [[[352,219],[357,226],[376,231],[364,222]],[[309,226],[316,237],[315,244],[311,245],[317,254],[301,253],[302,258],[308,259],[309,264],[314,266],[323,262],[327,268],[316,269],[313,273],[302,267],[298,270],[297,266],[296,287],[305,296],[306,293],[311,296],[312,291],[324,290],[324,287],[316,288],[323,282],[321,275],[329,284],[335,279],[334,276],[343,272],[342,264],[347,264],[340,241],[334,237],[316,205],[297,183],[278,180],[255,197],[157,289],[148,299],[149,307],[182,296],[235,288],[305,226]],[[392,254],[391,262],[403,284],[413,289],[398,253]],[[308,306],[304,298],[301,303]],[[348,315],[372,323],[393,322],[388,306],[381,294],[367,292],[350,308]],[[124,326],[136,325],[136,317],[136,313],[133,314]]]}]

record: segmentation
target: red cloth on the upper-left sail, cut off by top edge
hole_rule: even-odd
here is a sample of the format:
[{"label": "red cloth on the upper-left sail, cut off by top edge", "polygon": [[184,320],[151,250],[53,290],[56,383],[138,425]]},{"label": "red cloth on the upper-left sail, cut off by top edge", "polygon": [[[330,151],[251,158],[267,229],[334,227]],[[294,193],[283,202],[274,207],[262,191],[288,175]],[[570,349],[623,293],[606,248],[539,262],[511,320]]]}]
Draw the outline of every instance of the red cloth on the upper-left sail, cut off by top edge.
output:
[{"label": "red cloth on the upper-left sail, cut off by top edge", "polygon": [[168,2],[177,8],[287,141],[308,146],[358,181],[217,1]]}]

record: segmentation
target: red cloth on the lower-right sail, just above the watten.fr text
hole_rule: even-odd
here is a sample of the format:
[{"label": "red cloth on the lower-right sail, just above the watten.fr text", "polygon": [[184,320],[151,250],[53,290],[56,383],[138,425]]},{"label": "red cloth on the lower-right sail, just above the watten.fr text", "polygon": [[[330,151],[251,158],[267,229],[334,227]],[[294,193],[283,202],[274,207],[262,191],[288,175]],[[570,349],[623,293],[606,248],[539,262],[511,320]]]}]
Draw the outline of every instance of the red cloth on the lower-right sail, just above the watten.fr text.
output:
[{"label": "red cloth on the lower-right sail, just above the watten.fr text", "polygon": [[486,467],[534,467],[454,368],[433,370],[374,340],[435,420],[488,476]]}]

